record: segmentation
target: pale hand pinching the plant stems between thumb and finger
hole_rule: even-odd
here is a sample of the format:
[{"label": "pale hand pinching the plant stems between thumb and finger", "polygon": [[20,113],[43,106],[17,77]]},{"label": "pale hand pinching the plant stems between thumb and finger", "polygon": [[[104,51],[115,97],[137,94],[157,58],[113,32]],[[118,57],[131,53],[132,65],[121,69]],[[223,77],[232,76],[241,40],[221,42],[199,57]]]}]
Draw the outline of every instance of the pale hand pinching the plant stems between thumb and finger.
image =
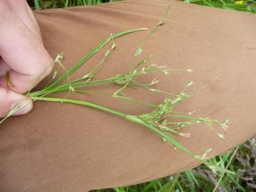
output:
[{"label": "pale hand pinching the plant stems between thumb and finger", "polygon": [[14,115],[26,114],[33,108],[23,94],[50,73],[51,63],[26,0],[0,0],[0,117],[17,103],[29,104]]}]

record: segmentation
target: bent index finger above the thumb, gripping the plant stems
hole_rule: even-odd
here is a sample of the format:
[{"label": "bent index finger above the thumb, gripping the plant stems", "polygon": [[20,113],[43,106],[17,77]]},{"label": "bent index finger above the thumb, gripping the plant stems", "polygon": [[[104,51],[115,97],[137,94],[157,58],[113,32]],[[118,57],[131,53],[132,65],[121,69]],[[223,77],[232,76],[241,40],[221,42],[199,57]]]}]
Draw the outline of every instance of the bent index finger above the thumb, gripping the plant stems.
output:
[{"label": "bent index finger above the thumb, gripping the plant stems", "polygon": [[[3,2],[0,2],[0,7]],[[50,73],[49,68],[41,75],[52,59],[43,43],[11,13],[8,5],[0,14],[0,21],[0,55],[11,68],[11,89],[26,92],[35,81],[39,82]],[[6,77],[0,78],[0,86],[6,87]]]}]

